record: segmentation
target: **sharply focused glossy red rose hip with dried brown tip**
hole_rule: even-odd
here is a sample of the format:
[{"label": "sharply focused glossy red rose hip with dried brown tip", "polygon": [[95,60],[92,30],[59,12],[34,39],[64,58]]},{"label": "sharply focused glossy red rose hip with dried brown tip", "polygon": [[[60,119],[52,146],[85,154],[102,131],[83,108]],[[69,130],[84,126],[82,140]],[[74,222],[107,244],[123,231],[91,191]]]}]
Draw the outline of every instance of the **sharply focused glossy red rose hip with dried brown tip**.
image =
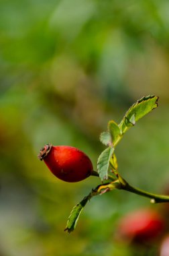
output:
[{"label": "sharply focused glossy red rose hip with dried brown tip", "polygon": [[89,157],[74,147],[46,144],[38,158],[44,160],[50,171],[62,181],[82,181],[93,172]]}]

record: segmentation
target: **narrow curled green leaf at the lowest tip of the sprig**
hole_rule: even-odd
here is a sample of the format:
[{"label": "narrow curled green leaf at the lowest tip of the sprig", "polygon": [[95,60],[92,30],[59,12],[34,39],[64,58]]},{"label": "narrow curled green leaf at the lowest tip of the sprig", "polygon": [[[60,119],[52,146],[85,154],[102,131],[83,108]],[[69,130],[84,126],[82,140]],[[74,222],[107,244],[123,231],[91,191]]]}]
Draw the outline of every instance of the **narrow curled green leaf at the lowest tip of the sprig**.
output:
[{"label": "narrow curled green leaf at the lowest tip of the sprig", "polygon": [[80,213],[82,212],[84,206],[87,204],[87,201],[89,200],[89,197],[84,197],[80,203],[75,205],[72,209],[72,212],[70,213],[70,216],[68,217],[68,222],[66,224],[66,228],[64,231],[68,231],[69,233],[72,232],[76,228],[76,224],[78,222],[78,218],[80,216]]}]

